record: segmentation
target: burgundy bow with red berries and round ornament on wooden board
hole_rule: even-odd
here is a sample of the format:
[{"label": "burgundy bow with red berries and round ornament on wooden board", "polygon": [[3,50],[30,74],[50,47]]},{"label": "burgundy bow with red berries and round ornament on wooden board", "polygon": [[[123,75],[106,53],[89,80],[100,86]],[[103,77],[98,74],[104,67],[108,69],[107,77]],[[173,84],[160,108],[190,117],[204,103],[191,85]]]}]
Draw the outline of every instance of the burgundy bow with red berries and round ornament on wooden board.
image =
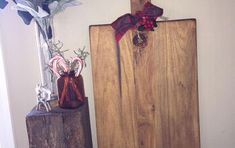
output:
[{"label": "burgundy bow with red berries and round ornament on wooden board", "polygon": [[129,29],[136,29],[132,42],[136,47],[143,49],[147,46],[148,39],[145,32],[154,31],[157,27],[157,18],[162,14],[162,8],[146,2],[142,11],[137,11],[134,15],[127,13],[120,16],[111,24],[115,30],[116,41],[119,42]]}]

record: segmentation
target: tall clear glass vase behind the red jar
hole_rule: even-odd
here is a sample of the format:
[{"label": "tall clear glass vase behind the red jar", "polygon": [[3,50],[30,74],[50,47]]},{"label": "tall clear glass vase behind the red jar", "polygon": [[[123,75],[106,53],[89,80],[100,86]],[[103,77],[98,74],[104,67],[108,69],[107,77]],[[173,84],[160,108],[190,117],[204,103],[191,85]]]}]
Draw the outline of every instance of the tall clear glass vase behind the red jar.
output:
[{"label": "tall clear glass vase behind the red jar", "polygon": [[[46,17],[36,20],[38,55],[41,73],[41,85],[50,90],[50,100],[57,99],[56,75],[48,67],[48,62],[55,54],[53,17]],[[48,101],[50,101],[48,100]]]}]

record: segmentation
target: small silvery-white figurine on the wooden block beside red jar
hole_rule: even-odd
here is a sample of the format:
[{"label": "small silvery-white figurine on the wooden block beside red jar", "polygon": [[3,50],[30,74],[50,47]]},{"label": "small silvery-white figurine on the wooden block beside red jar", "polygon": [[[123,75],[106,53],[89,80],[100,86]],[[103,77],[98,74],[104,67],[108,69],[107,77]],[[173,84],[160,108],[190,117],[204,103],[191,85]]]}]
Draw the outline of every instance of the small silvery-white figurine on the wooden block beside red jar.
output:
[{"label": "small silvery-white figurine on the wooden block beside red jar", "polygon": [[35,91],[37,94],[37,110],[40,110],[41,105],[43,105],[47,112],[51,111],[51,105],[49,103],[51,101],[51,91],[41,84],[37,85]]}]

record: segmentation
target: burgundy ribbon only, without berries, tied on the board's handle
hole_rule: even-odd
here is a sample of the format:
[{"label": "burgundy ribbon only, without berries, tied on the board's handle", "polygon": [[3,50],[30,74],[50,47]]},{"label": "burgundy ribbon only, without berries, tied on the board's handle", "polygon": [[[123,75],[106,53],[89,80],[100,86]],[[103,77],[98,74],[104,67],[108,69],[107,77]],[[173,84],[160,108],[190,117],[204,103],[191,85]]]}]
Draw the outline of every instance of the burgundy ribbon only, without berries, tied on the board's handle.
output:
[{"label": "burgundy ribbon only, without berries, tied on the board's handle", "polygon": [[161,16],[162,14],[162,8],[155,6],[150,2],[146,2],[144,4],[143,11],[138,11],[135,15],[127,13],[123,16],[120,16],[111,24],[115,30],[116,41],[118,42],[129,29],[135,28],[137,23],[141,21],[143,17],[148,16],[156,20],[157,17]]}]

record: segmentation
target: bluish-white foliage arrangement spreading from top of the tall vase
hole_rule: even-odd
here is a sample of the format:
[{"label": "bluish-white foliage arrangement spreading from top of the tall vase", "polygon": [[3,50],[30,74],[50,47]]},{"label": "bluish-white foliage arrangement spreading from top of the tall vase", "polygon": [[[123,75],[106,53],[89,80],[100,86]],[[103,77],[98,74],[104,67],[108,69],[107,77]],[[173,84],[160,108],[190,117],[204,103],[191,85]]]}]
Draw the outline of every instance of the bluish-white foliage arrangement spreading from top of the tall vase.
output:
[{"label": "bluish-white foliage arrangement spreading from top of the tall vase", "polygon": [[[0,8],[4,9],[9,2],[0,0]],[[29,25],[32,20],[36,22],[45,41],[53,36],[52,18],[67,7],[81,4],[77,0],[12,0],[12,2],[13,9],[17,10],[26,25]]]}]

